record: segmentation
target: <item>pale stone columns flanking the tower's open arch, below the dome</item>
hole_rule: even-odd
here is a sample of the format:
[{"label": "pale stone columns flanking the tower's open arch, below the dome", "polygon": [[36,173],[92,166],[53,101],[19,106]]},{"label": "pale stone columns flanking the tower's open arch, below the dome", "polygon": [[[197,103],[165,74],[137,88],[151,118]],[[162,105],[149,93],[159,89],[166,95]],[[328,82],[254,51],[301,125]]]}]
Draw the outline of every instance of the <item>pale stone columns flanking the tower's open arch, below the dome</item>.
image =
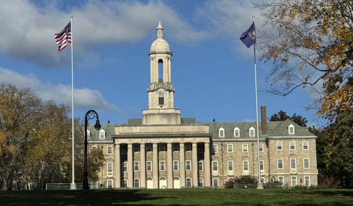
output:
[{"label": "pale stone columns flanking the tower's open arch, below the dome", "polygon": [[[158,82],[158,60],[160,59],[150,57],[151,83]],[[171,82],[170,61],[170,58],[163,61],[163,82]]]}]

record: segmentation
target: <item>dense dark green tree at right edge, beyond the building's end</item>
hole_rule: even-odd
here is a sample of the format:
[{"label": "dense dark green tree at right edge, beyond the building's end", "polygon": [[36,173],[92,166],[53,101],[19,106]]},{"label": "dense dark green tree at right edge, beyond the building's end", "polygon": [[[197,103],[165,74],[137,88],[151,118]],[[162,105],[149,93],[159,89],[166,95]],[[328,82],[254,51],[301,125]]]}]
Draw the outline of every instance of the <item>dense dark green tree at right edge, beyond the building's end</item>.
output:
[{"label": "dense dark green tree at right edge, beyond the building's end", "polygon": [[325,161],[329,174],[341,182],[344,188],[353,188],[353,108],[342,113],[327,128],[329,146]]}]

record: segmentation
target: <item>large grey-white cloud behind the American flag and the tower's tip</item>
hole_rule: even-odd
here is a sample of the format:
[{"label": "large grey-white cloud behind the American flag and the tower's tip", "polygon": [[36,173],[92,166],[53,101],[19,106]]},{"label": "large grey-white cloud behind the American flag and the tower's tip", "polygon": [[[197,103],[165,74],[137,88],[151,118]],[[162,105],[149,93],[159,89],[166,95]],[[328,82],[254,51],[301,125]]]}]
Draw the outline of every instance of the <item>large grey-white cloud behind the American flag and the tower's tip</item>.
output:
[{"label": "large grey-white cloud behind the American flag and the tower's tip", "polygon": [[[60,32],[73,18],[74,51],[82,53],[95,45],[136,42],[155,31],[158,21],[169,38],[187,43],[205,38],[177,12],[160,1],[88,0],[78,7],[59,9],[60,1],[50,1],[43,7],[29,0],[0,0],[0,53],[44,68],[70,64],[66,50],[57,54],[54,33]],[[78,66],[90,56],[82,55]],[[80,56],[79,56],[80,57]],[[93,61],[99,61],[99,58]]]}]

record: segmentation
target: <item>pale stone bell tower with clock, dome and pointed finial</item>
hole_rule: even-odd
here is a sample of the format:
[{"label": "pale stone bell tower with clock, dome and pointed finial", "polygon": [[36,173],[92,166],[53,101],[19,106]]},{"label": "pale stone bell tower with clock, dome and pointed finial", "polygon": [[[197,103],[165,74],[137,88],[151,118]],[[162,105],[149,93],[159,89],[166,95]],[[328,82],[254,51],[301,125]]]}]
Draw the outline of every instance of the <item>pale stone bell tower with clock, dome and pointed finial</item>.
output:
[{"label": "pale stone bell tower with clock, dome and pointed finial", "polygon": [[151,83],[147,89],[148,110],[143,111],[143,124],[181,124],[180,110],[174,109],[174,88],[171,83],[170,62],[172,52],[163,38],[159,22],[157,39],[148,53]]}]

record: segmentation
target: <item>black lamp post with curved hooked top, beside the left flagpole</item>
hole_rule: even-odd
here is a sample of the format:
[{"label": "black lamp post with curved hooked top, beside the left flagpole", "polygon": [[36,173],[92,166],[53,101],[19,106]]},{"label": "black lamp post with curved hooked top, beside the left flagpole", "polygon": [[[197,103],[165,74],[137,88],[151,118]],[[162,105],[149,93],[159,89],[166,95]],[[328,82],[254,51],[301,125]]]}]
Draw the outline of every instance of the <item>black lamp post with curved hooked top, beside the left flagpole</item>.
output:
[{"label": "black lamp post with curved hooked top, beside the left flagpole", "polygon": [[88,179],[87,179],[87,176],[88,176],[88,173],[87,173],[87,123],[88,123],[88,120],[91,120],[91,119],[94,119],[94,118],[97,118],[96,120],[96,124],[94,125],[94,128],[96,130],[99,130],[100,129],[100,124],[99,124],[99,118],[98,118],[98,114],[96,113],[96,111],[94,110],[90,110],[86,113],[86,116],[85,116],[85,171],[83,172],[83,185],[82,185],[82,189],[89,189],[89,186],[88,186]]}]

